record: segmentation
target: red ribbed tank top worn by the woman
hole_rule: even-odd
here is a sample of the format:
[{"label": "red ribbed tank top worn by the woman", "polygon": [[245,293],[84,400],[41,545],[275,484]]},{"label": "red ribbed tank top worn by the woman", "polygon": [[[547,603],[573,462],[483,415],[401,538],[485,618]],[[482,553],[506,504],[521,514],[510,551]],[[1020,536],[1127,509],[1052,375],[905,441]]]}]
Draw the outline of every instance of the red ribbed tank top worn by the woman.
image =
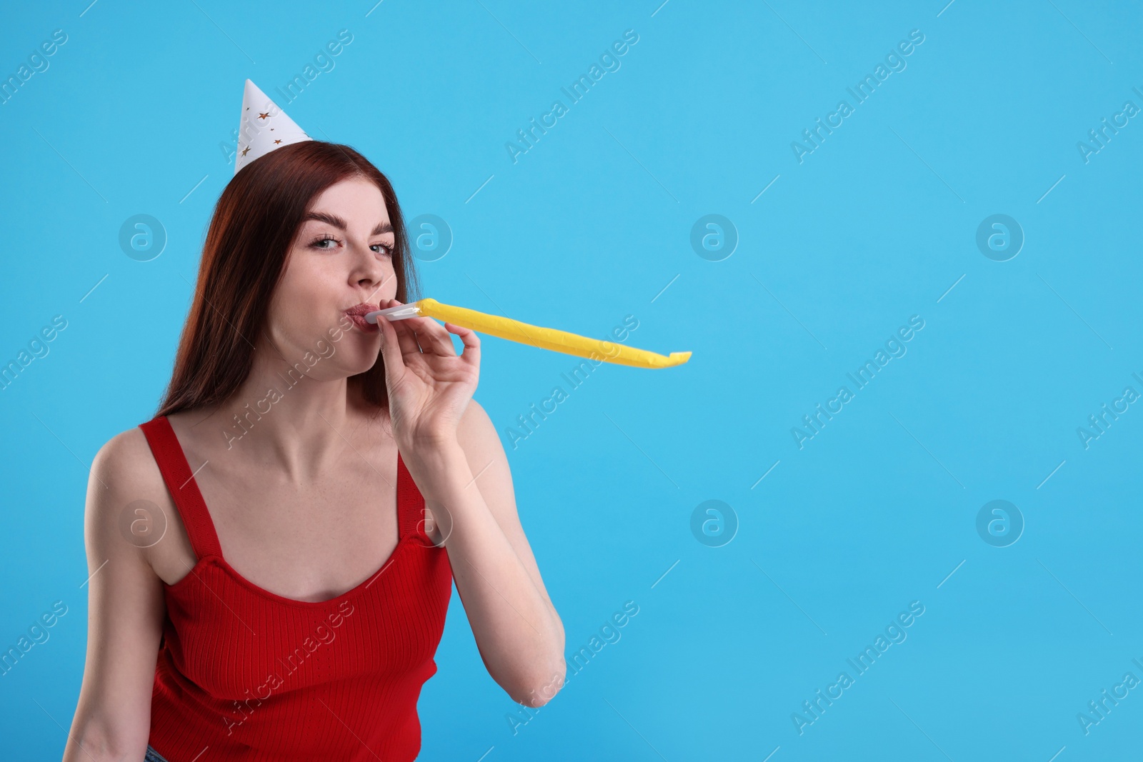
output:
[{"label": "red ribbed tank top worn by the woman", "polygon": [[397,456],[399,540],[363,583],[321,602],[263,589],[222,558],[166,416],[142,424],[190,536],[194,568],[163,585],[150,744],[168,760],[414,760],[417,698],[437,672],[451,567]]}]

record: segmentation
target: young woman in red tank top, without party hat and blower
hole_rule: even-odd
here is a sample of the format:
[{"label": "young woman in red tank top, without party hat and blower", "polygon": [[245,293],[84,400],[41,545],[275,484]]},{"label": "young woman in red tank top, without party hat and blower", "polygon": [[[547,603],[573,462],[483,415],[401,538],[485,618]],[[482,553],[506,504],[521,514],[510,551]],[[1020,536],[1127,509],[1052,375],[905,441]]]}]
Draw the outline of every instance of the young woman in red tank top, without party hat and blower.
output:
[{"label": "young woman in red tank top, without party hat and blower", "polygon": [[64,762],[413,760],[454,580],[513,700],[562,685],[562,624],[471,399],[479,338],[361,318],[415,290],[392,186],[353,149],[235,174],[166,398],[91,466]]}]

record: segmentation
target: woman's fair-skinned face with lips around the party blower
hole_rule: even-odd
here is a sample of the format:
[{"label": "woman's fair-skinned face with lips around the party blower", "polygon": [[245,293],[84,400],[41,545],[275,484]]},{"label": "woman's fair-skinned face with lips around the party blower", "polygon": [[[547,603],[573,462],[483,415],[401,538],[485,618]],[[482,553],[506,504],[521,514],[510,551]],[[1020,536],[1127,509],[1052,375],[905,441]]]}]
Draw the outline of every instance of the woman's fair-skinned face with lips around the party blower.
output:
[{"label": "woman's fair-skinned face with lips around the party blower", "polygon": [[373,367],[381,332],[345,310],[376,310],[397,297],[394,238],[385,199],[369,181],[342,181],[313,200],[270,305],[267,334],[287,362],[318,380]]}]

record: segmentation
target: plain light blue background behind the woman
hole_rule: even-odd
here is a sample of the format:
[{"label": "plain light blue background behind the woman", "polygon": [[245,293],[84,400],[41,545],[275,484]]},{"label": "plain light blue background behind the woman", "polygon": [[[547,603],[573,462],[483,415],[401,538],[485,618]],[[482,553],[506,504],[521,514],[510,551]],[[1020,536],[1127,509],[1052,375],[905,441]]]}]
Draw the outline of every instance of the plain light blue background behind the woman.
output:
[{"label": "plain light blue background behind the woman", "polygon": [[[628,344],[694,352],[663,370],[605,364],[517,448],[505,433],[568,655],[625,601],[639,613],[513,735],[505,715],[521,709],[454,591],[421,759],[1137,753],[1143,689],[1088,735],[1077,713],[1143,677],[1143,411],[1087,449],[1077,427],[1125,386],[1143,392],[1143,123],[1087,163],[1077,143],[1143,106],[1143,13],[661,1],[0,11],[5,78],[67,34],[0,105],[0,361],[67,320],[0,393],[0,643],[69,607],[0,677],[6,759],[62,753],[85,663],[88,468],[169,379],[242,82],[275,97],[342,29],[353,41],[335,67],[279,105],[369,157],[407,218],[447,220],[451,250],[418,264],[424,296],[598,337],[630,314]],[[625,30],[639,41],[620,70],[513,163],[505,142],[567,105],[560,87]],[[846,88],[910,30],[925,40],[908,67],[799,163],[791,142],[854,105]],[[118,244],[136,214],[168,235],[151,262]],[[689,243],[708,214],[737,231],[720,262]],[[1007,262],[975,243],[993,214],[1025,235]],[[908,353],[799,449],[791,427],[911,315],[925,327]],[[502,432],[577,363],[482,346],[475,398]],[[709,499],[737,516],[721,547],[690,530]],[[1008,547],[976,531],[993,499],[1025,522]],[[908,639],[799,735],[791,714],[854,676],[847,657],[911,601],[925,613]]]}]

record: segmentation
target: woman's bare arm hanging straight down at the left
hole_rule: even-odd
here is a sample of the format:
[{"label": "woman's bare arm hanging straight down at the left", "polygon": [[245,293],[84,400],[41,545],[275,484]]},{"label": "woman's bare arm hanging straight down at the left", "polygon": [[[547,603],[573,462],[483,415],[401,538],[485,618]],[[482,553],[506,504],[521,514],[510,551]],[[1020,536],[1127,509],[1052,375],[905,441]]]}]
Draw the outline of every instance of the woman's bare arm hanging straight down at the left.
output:
[{"label": "woman's bare arm hanging straight down at the left", "polygon": [[[87,664],[63,762],[142,760],[151,731],[151,691],[166,604],[162,580],[139,545],[120,531],[128,504],[170,498],[139,428],[96,454],[87,486]],[[168,519],[170,516],[168,515]],[[133,514],[131,520],[146,520]],[[171,522],[167,530],[174,532]],[[169,538],[167,538],[168,542]],[[82,747],[82,748],[81,748]]]}]

